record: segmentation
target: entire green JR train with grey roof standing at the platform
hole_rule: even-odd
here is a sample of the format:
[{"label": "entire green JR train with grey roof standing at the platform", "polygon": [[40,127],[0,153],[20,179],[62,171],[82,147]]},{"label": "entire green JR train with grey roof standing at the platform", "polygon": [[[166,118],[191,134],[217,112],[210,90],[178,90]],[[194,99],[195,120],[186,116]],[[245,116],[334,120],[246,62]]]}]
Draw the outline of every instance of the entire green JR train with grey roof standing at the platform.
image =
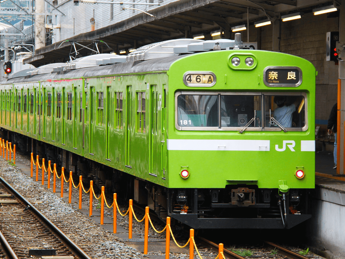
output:
[{"label": "entire green JR train with grey roof standing at the platform", "polygon": [[179,39],[1,82],[1,134],[195,229],[292,228],[315,187],[315,67]]}]

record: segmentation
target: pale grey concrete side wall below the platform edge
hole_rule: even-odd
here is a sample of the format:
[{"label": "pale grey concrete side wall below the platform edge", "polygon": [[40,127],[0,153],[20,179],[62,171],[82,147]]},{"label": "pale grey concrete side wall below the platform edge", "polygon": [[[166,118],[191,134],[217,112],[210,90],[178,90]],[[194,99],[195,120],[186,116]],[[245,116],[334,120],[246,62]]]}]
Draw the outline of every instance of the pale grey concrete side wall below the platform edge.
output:
[{"label": "pale grey concrete side wall below the platform edge", "polygon": [[345,193],[317,187],[309,245],[328,259],[345,258]]}]

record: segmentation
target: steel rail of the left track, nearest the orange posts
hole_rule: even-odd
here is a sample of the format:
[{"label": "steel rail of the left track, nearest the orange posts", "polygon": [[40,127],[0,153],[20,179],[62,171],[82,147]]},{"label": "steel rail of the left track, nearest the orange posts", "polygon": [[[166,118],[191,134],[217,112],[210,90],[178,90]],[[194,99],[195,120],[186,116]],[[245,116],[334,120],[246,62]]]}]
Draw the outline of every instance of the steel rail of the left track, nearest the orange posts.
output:
[{"label": "steel rail of the left track, nearest the orange posts", "polygon": [[91,259],[80,247],[77,246],[75,242],[73,242],[69,237],[65,235],[53,222],[51,222],[48,218],[45,217],[38,209],[36,209],[31,202],[24,198],[16,189],[14,189],[5,179],[0,176],[0,181],[10,190],[13,194],[20,199],[24,204],[26,204],[29,209],[36,214],[36,216],[46,224],[48,228],[50,228],[65,244],[66,246],[73,252],[79,259]]}]

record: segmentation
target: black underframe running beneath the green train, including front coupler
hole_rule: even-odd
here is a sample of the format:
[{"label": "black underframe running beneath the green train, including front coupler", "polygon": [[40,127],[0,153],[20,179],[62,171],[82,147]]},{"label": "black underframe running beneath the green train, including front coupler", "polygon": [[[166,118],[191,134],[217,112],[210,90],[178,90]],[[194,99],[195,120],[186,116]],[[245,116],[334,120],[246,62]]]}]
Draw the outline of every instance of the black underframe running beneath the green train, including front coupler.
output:
[{"label": "black underframe running beneath the green train, including front coupler", "polygon": [[77,181],[82,175],[86,186],[93,180],[94,186],[105,186],[109,194],[116,192],[124,200],[147,205],[163,221],[169,216],[194,229],[288,229],[311,218],[309,189],[290,189],[285,194],[256,185],[169,189],[3,128],[0,134],[22,152],[74,172]]}]

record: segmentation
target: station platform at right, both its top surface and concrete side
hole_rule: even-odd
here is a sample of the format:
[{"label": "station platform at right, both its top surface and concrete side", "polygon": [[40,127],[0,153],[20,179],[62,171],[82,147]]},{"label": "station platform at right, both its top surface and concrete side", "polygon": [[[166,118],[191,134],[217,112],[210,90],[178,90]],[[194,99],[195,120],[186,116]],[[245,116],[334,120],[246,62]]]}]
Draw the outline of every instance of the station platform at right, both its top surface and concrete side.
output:
[{"label": "station platform at right, both its top surface and concrete side", "polygon": [[345,258],[345,176],[333,169],[333,152],[315,153],[315,196],[308,244],[328,259]]}]

